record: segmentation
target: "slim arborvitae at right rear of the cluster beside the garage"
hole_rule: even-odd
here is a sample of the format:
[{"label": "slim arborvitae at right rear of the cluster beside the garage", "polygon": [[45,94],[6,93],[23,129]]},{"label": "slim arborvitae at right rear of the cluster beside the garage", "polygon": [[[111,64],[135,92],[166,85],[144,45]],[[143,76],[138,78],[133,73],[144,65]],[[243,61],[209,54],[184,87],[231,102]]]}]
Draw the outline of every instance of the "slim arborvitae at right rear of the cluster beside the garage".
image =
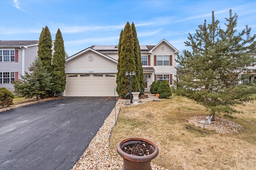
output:
[{"label": "slim arborvitae at right rear of the cluster beside the garage", "polygon": [[136,66],[136,74],[138,77],[138,81],[140,83],[141,91],[144,92],[145,80],[144,80],[141,54],[140,54],[140,44],[139,44],[139,40],[137,37],[137,32],[136,32],[134,23],[132,23],[132,35],[133,35],[133,42],[134,42],[134,59],[135,59],[135,66]]}]

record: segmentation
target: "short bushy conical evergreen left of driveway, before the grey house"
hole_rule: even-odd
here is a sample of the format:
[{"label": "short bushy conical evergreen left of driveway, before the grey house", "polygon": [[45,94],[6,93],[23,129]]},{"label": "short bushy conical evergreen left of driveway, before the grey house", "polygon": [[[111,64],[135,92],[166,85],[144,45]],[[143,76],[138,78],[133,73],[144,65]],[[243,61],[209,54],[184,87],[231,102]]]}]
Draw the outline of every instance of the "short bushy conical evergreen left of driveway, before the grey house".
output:
[{"label": "short bushy conical evergreen left of driveway, before the grey house", "polygon": [[22,94],[22,97],[32,98],[36,97],[39,100],[42,96],[48,95],[52,84],[51,74],[46,71],[42,61],[36,58],[30,67],[29,72],[25,72],[25,75],[21,77],[21,80],[14,81],[13,85],[16,93]]}]

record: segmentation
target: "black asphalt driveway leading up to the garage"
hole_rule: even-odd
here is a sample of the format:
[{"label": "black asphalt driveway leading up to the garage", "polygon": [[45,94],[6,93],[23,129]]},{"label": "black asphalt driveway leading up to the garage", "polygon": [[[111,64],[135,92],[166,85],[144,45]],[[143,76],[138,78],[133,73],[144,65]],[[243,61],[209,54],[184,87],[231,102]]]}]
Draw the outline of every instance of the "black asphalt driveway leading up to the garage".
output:
[{"label": "black asphalt driveway leading up to the garage", "polygon": [[1,170],[70,170],[114,99],[68,97],[0,113]]}]

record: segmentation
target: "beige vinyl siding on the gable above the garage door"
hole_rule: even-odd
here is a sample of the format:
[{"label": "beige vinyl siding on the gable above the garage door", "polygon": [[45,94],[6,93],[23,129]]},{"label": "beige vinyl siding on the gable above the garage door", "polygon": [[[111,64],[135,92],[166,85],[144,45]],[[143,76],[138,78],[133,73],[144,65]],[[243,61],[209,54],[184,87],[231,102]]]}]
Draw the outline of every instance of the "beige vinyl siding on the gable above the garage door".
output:
[{"label": "beige vinyl siding on the gable above the garage door", "polygon": [[[88,56],[92,55],[94,59],[88,61]],[[117,63],[110,61],[109,59],[102,57],[94,53],[93,51],[88,51],[87,53],[78,56],[65,64],[66,72],[117,72]],[[94,72],[95,73],[95,72]]]}]

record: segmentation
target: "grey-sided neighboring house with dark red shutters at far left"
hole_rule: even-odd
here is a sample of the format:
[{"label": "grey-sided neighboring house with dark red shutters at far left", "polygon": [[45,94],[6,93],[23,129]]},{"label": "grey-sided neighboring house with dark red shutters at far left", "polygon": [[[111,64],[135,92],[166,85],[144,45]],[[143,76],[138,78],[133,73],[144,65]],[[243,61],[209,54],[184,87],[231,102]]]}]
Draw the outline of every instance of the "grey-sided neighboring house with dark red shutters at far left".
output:
[{"label": "grey-sided neighboring house with dark red shutters at far left", "polygon": [[[14,90],[12,81],[28,72],[28,67],[37,57],[38,42],[0,40],[0,88]],[[67,54],[65,58],[68,58]]]}]

